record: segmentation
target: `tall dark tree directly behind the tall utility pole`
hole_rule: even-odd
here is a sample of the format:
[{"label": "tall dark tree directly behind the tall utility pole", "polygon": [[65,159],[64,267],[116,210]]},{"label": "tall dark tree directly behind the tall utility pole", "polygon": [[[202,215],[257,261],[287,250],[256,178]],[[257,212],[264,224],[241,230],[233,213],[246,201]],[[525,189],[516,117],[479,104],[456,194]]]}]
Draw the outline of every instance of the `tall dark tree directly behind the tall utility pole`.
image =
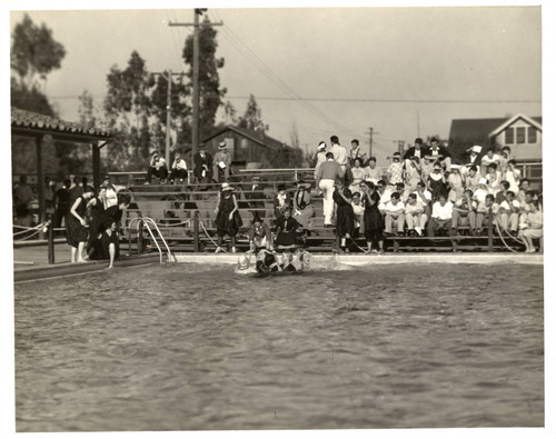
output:
[{"label": "tall dark tree directly behind the tall utility pole", "polygon": [[[210,20],[205,17],[203,24]],[[211,26],[199,28],[199,134],[200,138],[209,134],[216,120],[218,108],[222,103],[226,88],[220,89],[218,69],[224,67],[224,58],[216,58],[218,42],[217,31]],[[186,39],[182,52],[183,60],[190,66],[188,77],[192,80],[193,36]]]}]

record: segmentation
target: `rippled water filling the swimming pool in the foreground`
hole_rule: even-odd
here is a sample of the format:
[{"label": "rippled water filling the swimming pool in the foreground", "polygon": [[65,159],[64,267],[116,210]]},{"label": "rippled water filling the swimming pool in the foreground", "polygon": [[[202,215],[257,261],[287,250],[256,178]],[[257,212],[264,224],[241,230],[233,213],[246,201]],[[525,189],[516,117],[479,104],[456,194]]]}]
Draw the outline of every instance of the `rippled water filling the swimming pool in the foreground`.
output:
[{"label": "rippled water filling the swimming pool in the foreground", "polygon": [[544,425],[543,267],[16,286],[18,431]]}]

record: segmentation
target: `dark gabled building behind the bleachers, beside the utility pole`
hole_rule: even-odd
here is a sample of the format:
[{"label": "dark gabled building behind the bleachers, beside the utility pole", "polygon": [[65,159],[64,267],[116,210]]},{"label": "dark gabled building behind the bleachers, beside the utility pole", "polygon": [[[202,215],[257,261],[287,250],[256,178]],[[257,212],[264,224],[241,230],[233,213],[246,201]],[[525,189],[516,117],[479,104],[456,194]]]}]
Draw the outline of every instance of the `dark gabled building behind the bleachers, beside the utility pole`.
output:
[{"label": "dark gabled building behind the bleachers, beside the utility pole", "polygon": [[255,130],[226,126],[202,139],[207,150],[215,154],[225,140],[234,152],[232,166],[244,169],[280,168],[288,166],[294,149],[269,136]]}]

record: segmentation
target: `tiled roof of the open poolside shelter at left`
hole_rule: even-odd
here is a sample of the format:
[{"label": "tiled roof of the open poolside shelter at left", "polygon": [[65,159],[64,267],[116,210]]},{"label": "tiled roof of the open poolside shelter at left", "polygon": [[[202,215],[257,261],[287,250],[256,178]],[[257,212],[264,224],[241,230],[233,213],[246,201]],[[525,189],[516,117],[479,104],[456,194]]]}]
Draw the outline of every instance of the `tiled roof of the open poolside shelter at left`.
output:
[{"label": "tiled roof of the open poolside shelter at left", "polygon": [[90,139],[110,139],[111,133],[98,128],[88,128],[80,123],[66,122],[58,118],[11,107],[11,130],[14,134],[51,134],[72,141]]}]

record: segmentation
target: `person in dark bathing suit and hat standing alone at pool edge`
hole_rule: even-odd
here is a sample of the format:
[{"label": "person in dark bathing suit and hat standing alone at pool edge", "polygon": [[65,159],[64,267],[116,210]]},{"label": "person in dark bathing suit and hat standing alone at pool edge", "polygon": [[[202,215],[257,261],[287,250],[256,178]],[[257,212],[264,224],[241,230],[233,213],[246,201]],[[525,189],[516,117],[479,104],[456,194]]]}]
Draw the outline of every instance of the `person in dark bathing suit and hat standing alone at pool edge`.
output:
[{"label": "person in dark bathing suit and hat standing alone at pool edge", "polygon": [[216,213],[216,232],[218,235],[218,246],[216,252],[222,251],[224,237],[228,235],[231,241],[231,252],[236,252],[236,235],[244,225],[239,214],[238,200],[234,193],[234,188],[224,182],[220,192],[218,192]]}]

